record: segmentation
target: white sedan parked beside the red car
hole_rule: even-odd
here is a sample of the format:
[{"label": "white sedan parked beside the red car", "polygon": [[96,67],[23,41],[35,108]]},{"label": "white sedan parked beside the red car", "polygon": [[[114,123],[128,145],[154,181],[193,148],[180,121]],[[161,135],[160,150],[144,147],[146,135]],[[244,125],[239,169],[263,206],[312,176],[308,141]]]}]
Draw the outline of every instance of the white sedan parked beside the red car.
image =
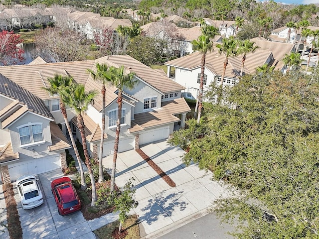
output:
[{"label": "white sedan parked beside the red car", "polygon": [[16,180],[16,187],[24,210],[43,204],[43,196],[35,175],[28,174]]}]

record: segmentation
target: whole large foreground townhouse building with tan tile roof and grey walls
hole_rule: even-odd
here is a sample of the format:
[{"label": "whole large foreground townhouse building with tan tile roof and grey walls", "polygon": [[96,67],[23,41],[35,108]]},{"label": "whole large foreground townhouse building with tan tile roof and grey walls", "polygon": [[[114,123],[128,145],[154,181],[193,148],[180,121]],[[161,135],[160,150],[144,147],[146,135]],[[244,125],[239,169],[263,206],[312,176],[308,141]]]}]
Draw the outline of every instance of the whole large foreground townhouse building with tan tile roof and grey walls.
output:
[{"label": "whole large foreground townhouse building with tan tile roof and grey walls", "polygon": [[[60,155],[63,154],[63,150],[61,151],[62,146],[58,147],[58,145],[61,144],[65,146],[64,148],[70,145],[68,142],[62,142],[65,138],[62,132],[66,135],[66,127],[59,109],[59,96],[50,96],[41,89],[41,87],[49,87],[47,78],[52,78],[55,74],[72,76],[77,83],[84,84],[87,91],[95,89],[99,92],[94,105],[89,108],[87,114],[83,115],[86,143],[92,157],[98,155],[100,148],[102,95],[101,84],[92,79],[87,69],[94,70],[96,63],[106,63],[115,67],[124,65],[125,71],[135,72],[135,80],[139,81],[135,89],[125,90],[123,93],[119,152],[138,148],[140,144],[168,138],[178,125],[184,127],[186,113],[190,111],[184,98],[181,98],[184,87],[169,79],[163,72],[155,71],[128,55],[105,56],[88,61],[41,63],[43,61],[37,58],[30,65],[0,67],[0,147],[2,150],[0,166],[1,169],[3,166],[3,170],[6,170],[5,165],[9,163],[15,165],[8,166],[10,180],[22,174],[40,173],[62,166]],[[26,98],[24,95],[20,97],[19,92],[23,92],[24,95],[28,93],[30,97]],[[107,87],[103,156],[113,153],[117,109],[117,88]],[[77,119],[71,109],[67,110],[73,134],[80,139]],[[59,127],[55,125],[59,125],[62,132],[60,130],[60,133],[57,133]],[[24,127],[28,127],[29,131]],[[30,131],[32,127],[34,132]],[[21,128],[20,131],[19,128]],[[41,132],[40,129],[42,129],[42,138],[38,135]],[[26,141],[26,136],[31,138],[30,142]],[[58,138],[61,140],[58,141]],[[9,140],[11,144],[7,145]],[[1,163],[1,160],[3,163],[6,161],[5,164]],[[46,164],[43,160],[48,163]]]}]

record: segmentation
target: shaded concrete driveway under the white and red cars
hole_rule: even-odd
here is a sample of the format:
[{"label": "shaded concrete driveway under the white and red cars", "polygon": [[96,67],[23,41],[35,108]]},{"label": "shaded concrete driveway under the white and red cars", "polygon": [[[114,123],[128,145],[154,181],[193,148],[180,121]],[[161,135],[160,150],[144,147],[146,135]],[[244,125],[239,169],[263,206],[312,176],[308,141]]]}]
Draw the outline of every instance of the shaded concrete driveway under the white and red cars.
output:
[{"label": "shaded concrete driveway under the white and red cars", "polygon": [[[60,169],[38,175],[44,203],[37,208],[23,210],[16,197],[23,239],[96,239],[81,212],[65,217],[58,214],[50,185],[52,180],[62,176]],[[17,196],[16,187],[13,188]]]}]

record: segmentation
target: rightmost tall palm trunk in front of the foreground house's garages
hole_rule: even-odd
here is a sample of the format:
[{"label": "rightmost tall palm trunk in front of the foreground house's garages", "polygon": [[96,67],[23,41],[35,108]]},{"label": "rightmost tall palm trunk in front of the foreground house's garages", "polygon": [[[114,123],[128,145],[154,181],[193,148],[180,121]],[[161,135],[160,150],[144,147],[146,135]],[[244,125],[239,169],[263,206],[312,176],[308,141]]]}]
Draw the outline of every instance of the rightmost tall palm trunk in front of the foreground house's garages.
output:
[{"label": "rightmost tall palm trunk in front of the foreground house's garages", "polygon": [[115,141],[114,141],[114,154],[113,154],[113,164],[112,164],[112,173],[111,173],[111,192],[114,191],[115,185],[115,168],[116,168],[116,160],[118,157],[119,151],[119,139],[120,139],[120,131],[121,131],[121,118],[122,118],[122,92],[118,93],[118,119],[116,121],[116,132],[115,132]]}]

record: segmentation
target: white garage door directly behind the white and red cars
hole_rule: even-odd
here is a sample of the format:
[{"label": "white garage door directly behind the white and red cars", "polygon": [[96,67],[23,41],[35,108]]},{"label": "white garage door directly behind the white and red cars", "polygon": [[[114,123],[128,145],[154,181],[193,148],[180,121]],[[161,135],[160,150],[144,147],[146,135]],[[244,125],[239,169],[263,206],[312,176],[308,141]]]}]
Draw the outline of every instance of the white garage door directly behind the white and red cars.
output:
[{"label": "white garage door directly behind the white and red cars", "polygon": [[25,174],[39,174],[61,168],[59,156],[41,159],[30,159],[8,165],[11,181]]}]

